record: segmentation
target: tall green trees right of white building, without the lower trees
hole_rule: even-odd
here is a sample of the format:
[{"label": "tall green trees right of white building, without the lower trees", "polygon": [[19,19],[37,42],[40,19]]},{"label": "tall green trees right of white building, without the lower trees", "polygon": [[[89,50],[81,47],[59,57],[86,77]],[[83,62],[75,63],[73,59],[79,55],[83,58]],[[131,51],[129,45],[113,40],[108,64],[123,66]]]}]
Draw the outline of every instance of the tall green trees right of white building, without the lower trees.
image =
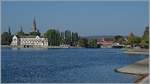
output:
[{"label": "tall green trees right of white building, without the lower trees", "polygon": [[55,29],[49,29],[44,33],[44,36],[48,38],[48,43],[50,46],[59,45],[70,45],[77,46],[79,35],[76,32],[71,32],[66,30],[65,32],[60,32]]}]

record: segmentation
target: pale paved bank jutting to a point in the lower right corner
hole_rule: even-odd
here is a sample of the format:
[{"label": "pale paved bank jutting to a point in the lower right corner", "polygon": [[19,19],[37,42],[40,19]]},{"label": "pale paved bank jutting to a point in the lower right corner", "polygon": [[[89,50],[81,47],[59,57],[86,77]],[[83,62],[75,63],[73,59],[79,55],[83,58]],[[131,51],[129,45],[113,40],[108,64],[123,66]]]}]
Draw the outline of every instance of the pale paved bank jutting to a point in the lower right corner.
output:
[{"label": "pale paved bank jutting to a point in the lower right corner", "polygon": [[134,83],[147,83],[149,80],[147,79],[147,77],[149,77],[148,62],[149,58],[146,58],[125,67],[115,69],[114,71],[118,73],[135,75],[137,78]]}]

